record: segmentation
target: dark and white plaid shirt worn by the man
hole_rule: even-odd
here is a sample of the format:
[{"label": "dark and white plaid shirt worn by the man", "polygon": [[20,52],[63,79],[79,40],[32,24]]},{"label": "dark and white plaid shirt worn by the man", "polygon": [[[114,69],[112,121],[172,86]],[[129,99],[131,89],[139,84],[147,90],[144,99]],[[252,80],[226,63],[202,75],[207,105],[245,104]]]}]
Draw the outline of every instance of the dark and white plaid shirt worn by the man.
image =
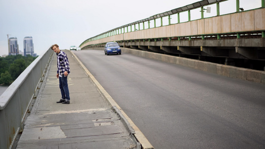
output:
[{"label": "dark and white plaid shirt worn by the man", "polygon": [[70,67],[67,55],[63,51],[60,51],[59,54],[56,53],[56,55],[57,55],[57,74],[59,74],[59,76],[63,76],[65,71],[67,71],[67,73],[70,74]]}]

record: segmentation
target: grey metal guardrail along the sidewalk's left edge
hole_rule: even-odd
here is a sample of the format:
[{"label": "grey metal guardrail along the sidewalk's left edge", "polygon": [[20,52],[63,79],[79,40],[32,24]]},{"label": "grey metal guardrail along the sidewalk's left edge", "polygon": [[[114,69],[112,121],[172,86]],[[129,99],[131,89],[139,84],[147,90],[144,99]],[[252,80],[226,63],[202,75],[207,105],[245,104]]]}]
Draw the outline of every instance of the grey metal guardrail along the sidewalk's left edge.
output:
[{"label": "grey metal guardrail along the sidewalk's left edge", "polygon": [[35,59],[0,96],[0,149],[11,149],[23,129],[29,105],[52,54],[49,48]]}]

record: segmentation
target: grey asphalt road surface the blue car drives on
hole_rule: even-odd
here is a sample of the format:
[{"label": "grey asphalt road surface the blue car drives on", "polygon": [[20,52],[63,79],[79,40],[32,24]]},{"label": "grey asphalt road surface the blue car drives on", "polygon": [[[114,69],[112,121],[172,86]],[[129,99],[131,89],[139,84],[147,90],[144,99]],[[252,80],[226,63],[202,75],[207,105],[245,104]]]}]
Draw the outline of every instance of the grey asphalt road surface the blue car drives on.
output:
[{"label": "grey asphalt road surface the blue car drives on", "polygon": [[74,53],[155,149],[265,149],[265,85],[126,53]]}]

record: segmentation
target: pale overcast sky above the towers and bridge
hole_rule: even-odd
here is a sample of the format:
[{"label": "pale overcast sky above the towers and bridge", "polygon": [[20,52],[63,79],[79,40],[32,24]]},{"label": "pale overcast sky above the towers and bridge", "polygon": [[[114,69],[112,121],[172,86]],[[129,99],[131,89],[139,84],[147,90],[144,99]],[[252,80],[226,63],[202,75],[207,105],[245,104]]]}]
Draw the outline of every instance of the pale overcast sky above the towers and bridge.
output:
[{"label": "pale overcast sky above the towers and bridge", "polygon": [[[7,34],[16,37],[20,51],[23,38],[32,36],[38,55],[53,44],[60,49],[79,46],[86,39],[113,28],[148,18],[200,0],[0,0],[0,56],[8,55]],[[261,7],[262,0],[240,0],[245,10]],[[216,15],[216,4],[210,5]],[[205,7],[206,8],[206,7]],[[220,3],[220,13],[236,11],[236,0]],[[191,19],[200,17],[199,9]],[[177,21],[172,17],[173,23]],[[180,21],[187,13],[180,13]]]}]

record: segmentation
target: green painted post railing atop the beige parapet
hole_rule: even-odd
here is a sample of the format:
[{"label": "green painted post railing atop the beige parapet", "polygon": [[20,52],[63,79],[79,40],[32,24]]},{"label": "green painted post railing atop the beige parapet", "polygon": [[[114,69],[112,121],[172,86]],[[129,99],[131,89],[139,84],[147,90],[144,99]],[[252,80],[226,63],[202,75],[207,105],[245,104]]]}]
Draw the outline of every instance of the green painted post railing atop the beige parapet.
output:
[{"label": "green painted post railing atop the beige parapet", "polygon": [[[177,23],[180,23],[180,15],[179,15],[180,12],[187,11],[188,12],[188,21],[192,21],[191,20],[191,16],[190,16],[191,15],[190,10],[193,10],[193,9],[196,9],[196,8],[200,8],[201,9],[200,10],[201,11],[201,19],[203,19],[204,18],[204,10],[206,10],[203,7],[207,6],[207,5],[215,4],[215,3],[216,3],[216,14],[217,14],[217,16],[219,16],[220,15],[220,5],[219,5],[219,3],[223,2],[223,1],[227,1],[227,0],[201,0],[201,1],[189,4],[189,5],[185,5],[185,6],[176,8],[176,9],[172,9],[170,11],[166,11],[166,12],[163,12],[163,13],[160,13],[160,14],[156,14],[156,15],[150,16],[149,18],[145,18],[145,19],[142,19],[142,20],[139,20],[139,21],[135,21],[135,22],[132,22],[132,23],[129,23],[129,24],[126,24],[126,25],[111,29],[109,31],[106,31],[106,32],[101,33],[99,35],[96,35],[94,37],[88,38],[87,40],[85,40],[80,45],[80,47],[82,47],[84,44],[86,44],[87,42],[90,42],[90,41],[99,40],[99,39],[103,39],[103,38],[107,38],[107,37],[110,37],[110,36],[119,35],[119,34],[123,34],[123,33],[128,33],[128,32],[132,32],[132,31],[150,29],[151,28],[150,27],[151,21],[154,23],[153,24],[154,28],[161,27],[161,26],[166,26],[166,25],[171,25],[172,24],[171,23],[171,16],[174,15],[174,14],[177,14]],[[265,0],[261,0],[261,6],[265,7]],[[237,10],[237,12],[240,12],[240,11],[244,10],[243,8],[240,8],[240,0],[236,0],[236,10]],[[166,25],[164,25],[164,23],[163,23],[163,18],[165,18],[165,17],[168,17],[168,24],[165,23]],[[159,19],[160,19],[160,23],[161,23],[160,26],[157,25],[157,23],[159,22],[157,20],[159,20]],[[148,26],[146,26],[145,24],[147,24]],[[141,25],[142,25],[143,29],[140,29]],[[137,29],[137,27],[138,27],[138,29]],[[265,32],[264,31],[262,31],[262,36],[265,37]],[[202,36],[202,39],[203,38],[204,37]],[[219,35],[219,38],[220,38],[220,35]],[[239,38],[239,35],[238,35],[238,38]],[[180,38],[178,38],[178,40],[180,40]]]}]

